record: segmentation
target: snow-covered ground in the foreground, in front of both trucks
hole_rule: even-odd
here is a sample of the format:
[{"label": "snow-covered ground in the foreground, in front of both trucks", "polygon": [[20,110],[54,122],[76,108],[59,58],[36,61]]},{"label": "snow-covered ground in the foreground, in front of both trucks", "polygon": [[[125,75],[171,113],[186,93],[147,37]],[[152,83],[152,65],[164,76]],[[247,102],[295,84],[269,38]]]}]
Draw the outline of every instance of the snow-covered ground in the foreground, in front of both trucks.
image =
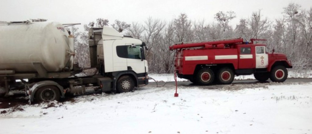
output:
[{"label": "snow-covered ground in the foreground, in front of both trucks", "polygon": [[[234,84],[94,94],[0,109],[0,133],[312,133],[312,83]],[[12,112],[14,110],[14,112]]]}]

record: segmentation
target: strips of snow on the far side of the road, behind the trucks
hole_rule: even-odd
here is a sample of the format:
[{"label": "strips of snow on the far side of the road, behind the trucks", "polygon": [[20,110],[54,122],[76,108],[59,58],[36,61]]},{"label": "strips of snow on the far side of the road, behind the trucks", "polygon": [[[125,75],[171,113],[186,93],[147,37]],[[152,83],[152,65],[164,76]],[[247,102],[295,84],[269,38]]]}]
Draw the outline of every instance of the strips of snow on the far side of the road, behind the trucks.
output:
[{"label": "strips of snow on the far side of the road, behind the trucks", "polygon": [[[174,81],[174,75],[173,74],[149,74],[149,77],[152,77],[157,82],[170,82]],[[312,71],[308,74],[298,74],[293,73],[291,71],[288,72],[288,78],[312,78]],[[149,79],[149,82],[155,82],[153,79]],[[255,79],[255,77],[252,75],[240,75],[235,76],[235,80],[248,80],[248,79]],[[180,79],[177,77],[177,81],[188,81],[187,79]]]}]

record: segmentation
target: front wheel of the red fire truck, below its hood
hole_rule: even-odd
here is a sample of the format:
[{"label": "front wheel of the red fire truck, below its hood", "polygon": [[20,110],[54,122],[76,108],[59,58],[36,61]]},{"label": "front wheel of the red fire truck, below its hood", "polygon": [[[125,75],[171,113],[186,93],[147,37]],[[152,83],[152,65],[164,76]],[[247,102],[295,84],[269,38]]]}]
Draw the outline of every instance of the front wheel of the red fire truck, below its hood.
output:
[{"label": "front wheel of the red fire truck, below its hood", "polygon": [[270,79],[273,82],[284,82],[287,76],[288,72],[284,66],[276,66],[271,70]]}]

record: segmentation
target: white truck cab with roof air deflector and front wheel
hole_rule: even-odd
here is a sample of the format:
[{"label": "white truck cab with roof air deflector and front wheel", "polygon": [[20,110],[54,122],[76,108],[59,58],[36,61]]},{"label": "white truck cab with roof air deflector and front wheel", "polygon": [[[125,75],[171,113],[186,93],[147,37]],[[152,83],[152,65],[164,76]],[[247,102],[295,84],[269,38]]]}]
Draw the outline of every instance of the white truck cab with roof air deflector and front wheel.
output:
[{"label": "white truck cab with roof air deflector and front wheel", "polygon": [[[90,28],[89,48],[91,68],[98,69],[98,75],[111,78],[116,92],[132,91],[148,84],[145,43],[141,40],[123,36],[108,26]],[[102,88],[103,92],[107,90]]]}]

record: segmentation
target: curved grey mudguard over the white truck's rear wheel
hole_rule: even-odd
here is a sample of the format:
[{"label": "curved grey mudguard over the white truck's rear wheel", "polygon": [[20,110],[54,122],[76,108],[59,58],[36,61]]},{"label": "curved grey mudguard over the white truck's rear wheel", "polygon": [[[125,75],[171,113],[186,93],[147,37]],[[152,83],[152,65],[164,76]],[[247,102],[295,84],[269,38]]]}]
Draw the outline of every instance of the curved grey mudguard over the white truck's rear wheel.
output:
[{"label": "curved grey mudguard over the white truck's rear wheel", "polygon": [[58,83],[54,82],[54,81],[51,81],[51,80],[45,80],[45,81],[40,81],[40,82],[37,82],[35,83],[29,90],[31,91],[31,94],[30,94],[30,101],[32,102],[34,100],[34,96],[37,92],[38,89],[40,89],[41,87],[44,87],[44,86],[55,86],[57,87],[57,89],[59,89],[60,93],[61,93],[61,98],[64,98],[64,91],[63,91],[63,87],[61,85],[59,85]]}]

